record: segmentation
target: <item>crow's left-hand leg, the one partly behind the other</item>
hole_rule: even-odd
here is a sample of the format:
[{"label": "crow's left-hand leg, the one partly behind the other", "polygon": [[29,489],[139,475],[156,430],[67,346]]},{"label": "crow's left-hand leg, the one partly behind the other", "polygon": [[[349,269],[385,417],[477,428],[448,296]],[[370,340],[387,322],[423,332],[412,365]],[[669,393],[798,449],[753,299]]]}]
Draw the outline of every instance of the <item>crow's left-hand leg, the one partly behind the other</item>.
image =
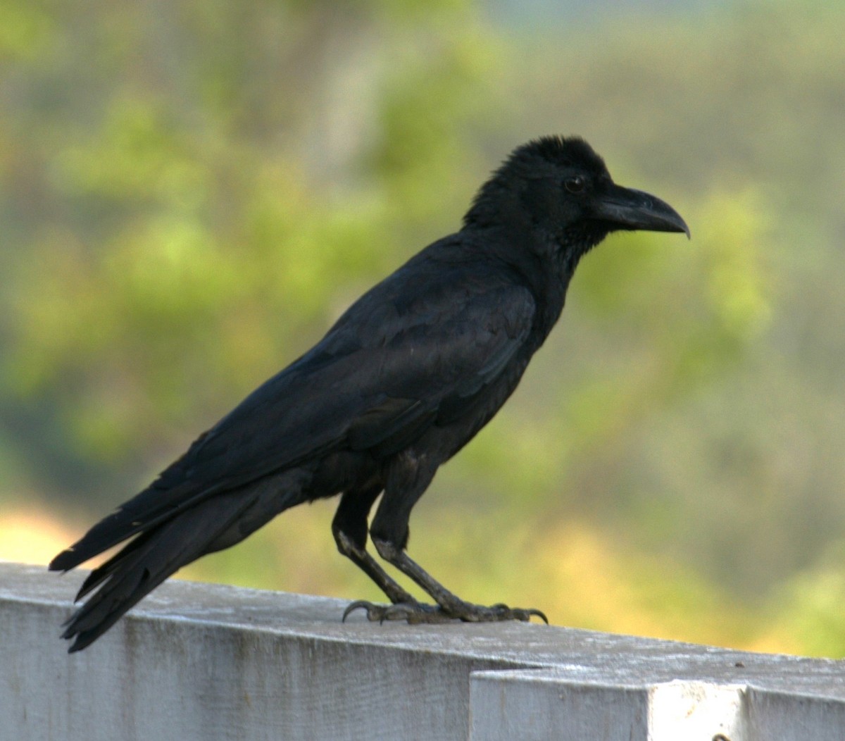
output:
[{"label": "crow's left-hand leg, the one partly behind the other", "polygon": [[[367,553],[367,515],[376,497],[381,493],[380,482],[370,482],[367,486],[350,489],[341,495],[341,504],[335,512],[331,531],[335,537],[337,549],[353,564],[372,579],[390,602],[411,603],[414,598],[387,574],[378,561]],[[368,602],[358,601],[346,608],[343,619],[346,620],[352,610],[367,608]]]}]

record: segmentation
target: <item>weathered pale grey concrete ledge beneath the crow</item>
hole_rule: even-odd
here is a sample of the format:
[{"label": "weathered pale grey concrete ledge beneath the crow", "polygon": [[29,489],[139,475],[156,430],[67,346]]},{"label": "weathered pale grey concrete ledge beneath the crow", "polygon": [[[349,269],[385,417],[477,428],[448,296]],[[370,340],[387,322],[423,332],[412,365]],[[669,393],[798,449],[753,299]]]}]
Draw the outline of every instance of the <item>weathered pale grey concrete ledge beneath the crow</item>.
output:
[{"label": "weathered pale grey concrete ledge beneath the crow", "polygon": [[341,624],[346,602],[171,581],[58,640],[85,574],[0,564],[0,738],[845,738],[845,663],[526,624]]}]

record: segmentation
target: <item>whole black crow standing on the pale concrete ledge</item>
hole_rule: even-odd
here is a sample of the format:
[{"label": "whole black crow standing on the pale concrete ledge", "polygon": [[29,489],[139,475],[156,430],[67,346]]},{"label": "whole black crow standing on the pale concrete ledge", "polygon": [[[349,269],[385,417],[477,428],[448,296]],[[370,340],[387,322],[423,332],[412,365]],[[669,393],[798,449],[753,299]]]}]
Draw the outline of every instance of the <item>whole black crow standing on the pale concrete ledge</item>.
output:
[{"label": "whole black crow standing on the pale concrete ledge", "polygon": [[[524,144],[443,237],[352,304],[303,357],[203,433],[149,488],[59,553],[68,571],[132,538],[94,569],[65,624],[89,646],[177,569],[229,548],[285,509],[341,495],[335,542],[390,605],[370,620],[543,619],[462,601],[406,554],[408,520],[438,467],[499,411],[564,308],[581,256],[618,230],[686,232],[648,193],[613,183],[583,139]],[[368,528],[375,500],[379,507]],[[366,549],[433,598],[417,602]]]}]

